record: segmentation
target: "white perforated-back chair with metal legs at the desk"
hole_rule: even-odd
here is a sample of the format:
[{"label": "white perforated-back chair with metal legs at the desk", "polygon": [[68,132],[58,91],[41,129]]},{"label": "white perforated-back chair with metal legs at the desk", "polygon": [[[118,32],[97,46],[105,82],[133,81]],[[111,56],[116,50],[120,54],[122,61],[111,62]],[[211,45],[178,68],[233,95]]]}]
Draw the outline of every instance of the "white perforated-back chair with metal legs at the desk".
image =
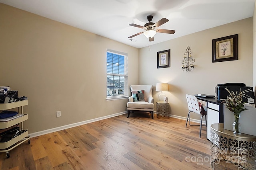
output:
[{"label": "white perforated-back chair with metal legs at the desk", "polygon": [[[186,94],[186,99],[187,99],[187,102],[188,102],[188,110],[189,110],[188,111],[189,125],[190,125],[190,112],[194,112],[194,113],[197,113],[197,114],[201,115],[200,125],[190,125],[190,126],[200,126],[199,137],[201,137],[202,126],[207,126],[207,117],[206,117],[207,112],[205,110],[200,111],[200,107],[199,107],[198,100],[197,100],[196,96]],[[204,109],[204,108],[202,108],[202,109]],[[204,116],[205,116],[206,125],[202,125],[202,120],[203,120]],[[187,127],[187,124],[188,124],[188,118],[187,118],[187,122],[186,122],[186,127]]]}]

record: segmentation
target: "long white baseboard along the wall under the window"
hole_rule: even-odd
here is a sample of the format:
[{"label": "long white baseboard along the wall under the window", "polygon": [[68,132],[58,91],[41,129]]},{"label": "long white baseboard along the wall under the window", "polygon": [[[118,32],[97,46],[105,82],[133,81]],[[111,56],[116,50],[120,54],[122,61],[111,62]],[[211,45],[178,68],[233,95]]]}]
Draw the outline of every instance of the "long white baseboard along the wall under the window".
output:
[{"label": "long white baseboard along the wall under the window", "polygon": [[61,131],[61,130],[68,129],[68,128],[71,128],[71,127],[76,127],[76,126],[84,125],[84,124],[87,124],[87,123],[92,123],[92,122],[95,122],[95,121],[100,121],[100,120],[103,120],[103,119],[108,119],[110,117],[115,117],[115,116],[123,115],[123,114],[126,114],[126,113],[127,113],[127,111],[124,111],[124,112],[121,112],[121,113],[115,113],[115,114],[112,114],[112,115],[107,115],[107,116],[98,117],[98,118],[95,118],[95,119],[90,119],[90,120],[86,120],[86,121],[72,123],[72,124],[69,124],[69,125],[55,127],[55,128],[52,128],[52,129],[47,129],[47,130],[39,131],[39,132],[35,132],[35,133],[30,133],[28,135],[30,137],[37,137],[37,136],[40,136],[40,135],[45,135],[45,134],[48,134],[48,133],[52,133],[52,132],[56,132],[56,131]]}]

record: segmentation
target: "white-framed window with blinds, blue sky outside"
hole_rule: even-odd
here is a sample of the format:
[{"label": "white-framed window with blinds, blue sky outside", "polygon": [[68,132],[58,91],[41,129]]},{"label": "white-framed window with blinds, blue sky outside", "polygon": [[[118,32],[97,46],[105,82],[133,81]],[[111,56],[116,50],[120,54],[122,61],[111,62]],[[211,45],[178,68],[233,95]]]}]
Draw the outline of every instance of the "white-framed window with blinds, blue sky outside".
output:
[{"label": "white-framed window with blinds, blue sky outside", "polygon": [[107,49],[107,99],[127,97],[128,57]]}]

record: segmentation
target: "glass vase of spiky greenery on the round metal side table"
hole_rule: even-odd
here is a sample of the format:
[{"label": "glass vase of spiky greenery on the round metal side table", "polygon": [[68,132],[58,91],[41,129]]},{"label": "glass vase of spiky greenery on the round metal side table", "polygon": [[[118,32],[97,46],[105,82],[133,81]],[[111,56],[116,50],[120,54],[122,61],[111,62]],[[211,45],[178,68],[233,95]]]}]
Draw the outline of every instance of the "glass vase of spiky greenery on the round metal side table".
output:
[{"label": "glass vase of spiky greenery on the round metal side table", "polygon": [[233,133],[235,135],[241,135],[241,125],[239,123],[239,118],[240,118],[240,113],[242,111],[248,110],[244,107],[244,104],[246,102],[242,101],[242,98],[249,98],[248,95],[246,95],[247,92],[250,92],[250,89],[244,90],[242,92],[234,92],[232,90],[228,90],[226,88],[228,93],[230,94],[227,96],[226,99],[221,99],[223,100],[223,104],[234,113],[235,121],[233,123]]}]

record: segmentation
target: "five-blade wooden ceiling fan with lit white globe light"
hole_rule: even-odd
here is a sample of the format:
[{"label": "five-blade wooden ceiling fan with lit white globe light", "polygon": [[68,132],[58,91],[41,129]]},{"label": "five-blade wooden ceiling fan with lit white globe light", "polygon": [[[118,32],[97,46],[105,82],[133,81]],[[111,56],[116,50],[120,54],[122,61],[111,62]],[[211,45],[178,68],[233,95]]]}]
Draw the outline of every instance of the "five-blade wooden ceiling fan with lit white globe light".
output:
[{"label": "five-blade wooden ceiling fan with lit white globe light", "polygon": [[157,28],[160,25],[163,25],[164,23],[168,22],[169,21],[168,19],[162,18],[157,23],[151,22],[152,19],[153,19],[153,16],[147,16],[147,19],[148,19],[148,23],[145,23],[144,26],[140,26],[140,25],[137,25],[137,24],[134,24],[134,23],[129,24],[130,26],[145,29],[145,31],[136,33],[136,34],[134,34],[134,35],[132,35],[128,38],[132,38],[132,37],[135,37],[135,36],[140,35],[140,34],[143,33],[149,39],[149,41],[154,41],[154,35],[156,34],[156,32],[168,33],[168,34],[174,34],[175,33],[175,30]]}]

